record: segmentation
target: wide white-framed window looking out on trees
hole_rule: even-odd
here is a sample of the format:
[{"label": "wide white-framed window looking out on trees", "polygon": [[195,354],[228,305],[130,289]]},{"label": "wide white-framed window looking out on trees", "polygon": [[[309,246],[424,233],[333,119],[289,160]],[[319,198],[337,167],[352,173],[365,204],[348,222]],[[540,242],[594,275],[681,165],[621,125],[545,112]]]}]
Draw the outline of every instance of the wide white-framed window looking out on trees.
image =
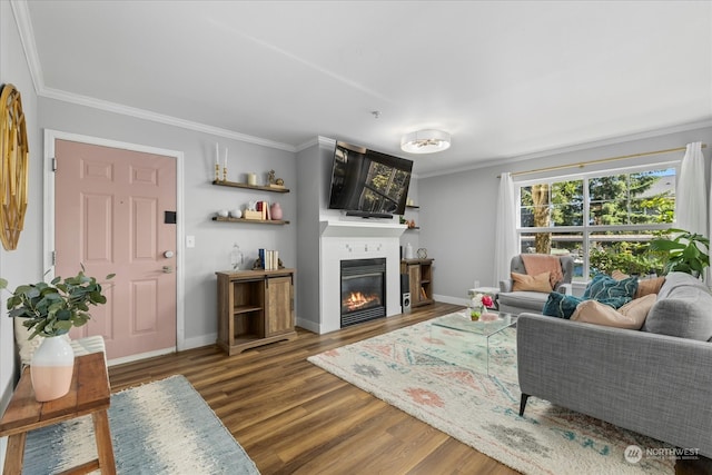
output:
[{"label": "wide white-framed window looking out on trees", "polygon": [[517,182],[521,251],[572,255],[574,280],[660,273],[646,244],[674,222],[676,171],[664,164]]}]

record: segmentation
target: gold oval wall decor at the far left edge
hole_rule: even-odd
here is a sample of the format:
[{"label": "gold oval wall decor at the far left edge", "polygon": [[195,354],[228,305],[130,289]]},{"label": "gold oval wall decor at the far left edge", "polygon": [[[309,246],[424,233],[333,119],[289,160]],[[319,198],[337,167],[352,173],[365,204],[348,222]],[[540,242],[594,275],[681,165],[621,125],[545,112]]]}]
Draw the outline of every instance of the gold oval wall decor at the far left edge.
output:
[{"label": "gold oval wall decor at the far left edge", "polygon": [[4,85],[0,93],[0,240],[7,250],[17,249],[24,225],[29,151],[20,91]]}]

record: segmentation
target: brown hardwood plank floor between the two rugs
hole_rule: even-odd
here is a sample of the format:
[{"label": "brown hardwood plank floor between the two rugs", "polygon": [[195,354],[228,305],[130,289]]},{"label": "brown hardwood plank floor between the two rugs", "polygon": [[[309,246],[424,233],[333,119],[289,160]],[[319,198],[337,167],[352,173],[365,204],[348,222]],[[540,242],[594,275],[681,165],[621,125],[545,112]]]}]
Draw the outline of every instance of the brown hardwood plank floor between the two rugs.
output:
[{"label": "brown hardwood plank floor between the two rugs", "polygon": [[231,357],[208,346],[112,366],[111,389],[186,376],[266,475],[515,474],[306,360],[457,308],[436,303],[326,335],[298,329],[293,342]]}]

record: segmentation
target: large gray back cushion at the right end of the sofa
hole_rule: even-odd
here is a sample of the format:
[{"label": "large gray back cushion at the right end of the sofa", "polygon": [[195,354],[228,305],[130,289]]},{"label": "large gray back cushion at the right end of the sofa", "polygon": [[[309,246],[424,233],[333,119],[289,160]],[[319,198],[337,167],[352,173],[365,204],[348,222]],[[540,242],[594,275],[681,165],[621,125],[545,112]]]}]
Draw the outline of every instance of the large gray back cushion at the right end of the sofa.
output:
[{"label": "large gray back cushion at the right end of the sofa", "polygon": [[712,338],[711,309],[712,295],[701,280],[689,274],[670,273],[643,330],[708,342]]}]

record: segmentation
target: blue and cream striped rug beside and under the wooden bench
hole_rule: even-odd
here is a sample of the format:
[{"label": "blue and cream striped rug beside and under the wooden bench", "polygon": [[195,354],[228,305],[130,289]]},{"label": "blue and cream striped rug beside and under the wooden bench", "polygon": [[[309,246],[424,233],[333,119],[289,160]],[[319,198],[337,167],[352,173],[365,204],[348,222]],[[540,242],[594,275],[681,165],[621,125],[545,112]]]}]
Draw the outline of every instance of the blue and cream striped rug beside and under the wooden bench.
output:
[{"label": "blue and cream striped rug beside and under the wooden bench", "polygon": [[[259,473],[184,376],[111,395],[109,424],[118,474]],[[22,473],[59,473],[96,457],[91,417],[80,417],[30,432]]]}]

